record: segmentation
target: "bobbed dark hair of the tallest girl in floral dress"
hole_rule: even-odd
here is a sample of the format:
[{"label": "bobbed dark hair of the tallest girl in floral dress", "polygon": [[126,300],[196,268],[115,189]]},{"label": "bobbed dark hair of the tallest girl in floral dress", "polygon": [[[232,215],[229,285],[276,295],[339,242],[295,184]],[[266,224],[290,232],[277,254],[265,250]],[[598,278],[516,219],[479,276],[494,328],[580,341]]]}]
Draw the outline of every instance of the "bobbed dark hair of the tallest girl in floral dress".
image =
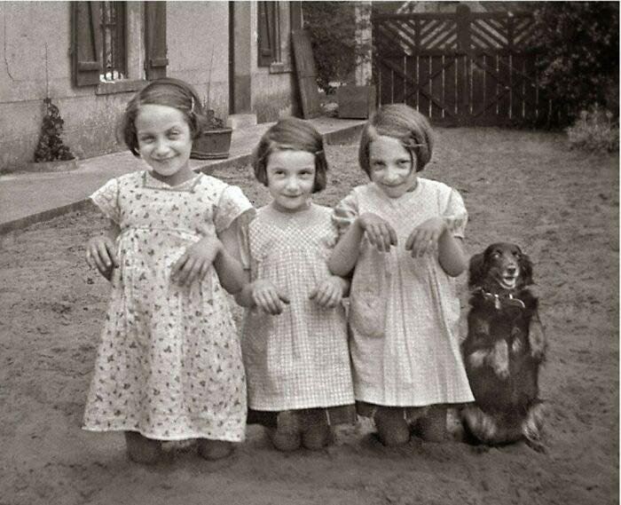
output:
[{"label": "bobbed dark hair of the tallest girl in floral dress", "polygon": [[181,111],[190,126],[192,138],[199,137],[207,122],[207,117],[200,105],[200,98],[190,84],[172,77],[156,79],[146,84],[130,99],[125,107],[125,114],[122,115],[119,133],[134,156],[140,155],[136,135],[136,118],[140,107],[145,105],[173,107]]}]

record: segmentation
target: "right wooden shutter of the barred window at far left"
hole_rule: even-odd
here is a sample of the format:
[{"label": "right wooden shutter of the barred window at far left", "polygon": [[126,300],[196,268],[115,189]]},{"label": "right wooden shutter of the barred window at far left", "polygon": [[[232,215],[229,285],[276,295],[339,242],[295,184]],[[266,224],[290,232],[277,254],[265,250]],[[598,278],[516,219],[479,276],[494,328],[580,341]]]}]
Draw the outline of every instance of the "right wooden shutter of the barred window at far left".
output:
[{"label": "right wooden shutter of the barred window at far left", "polygon": [[166,77],[166,2],[145,2],[145,73],[149,81]]}]

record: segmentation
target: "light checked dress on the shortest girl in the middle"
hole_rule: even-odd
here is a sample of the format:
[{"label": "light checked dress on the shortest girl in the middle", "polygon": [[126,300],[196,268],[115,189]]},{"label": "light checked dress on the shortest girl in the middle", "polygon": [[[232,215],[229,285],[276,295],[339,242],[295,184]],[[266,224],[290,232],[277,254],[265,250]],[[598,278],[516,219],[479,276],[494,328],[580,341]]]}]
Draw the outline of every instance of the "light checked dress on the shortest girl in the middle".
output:
[{"label": "light checked dress on the shortest girl in the middle", "polygon": [[251,280],[271,280],[290,301],[277,316],[246,313],[241,345],[253,410],[349,405],[353,413],[344,308],[322,308],[309,299],[329,275],[326,261],[337,239],[331,215],[316,204],[293,214],[267,205],[248,225],[242,257]]}]

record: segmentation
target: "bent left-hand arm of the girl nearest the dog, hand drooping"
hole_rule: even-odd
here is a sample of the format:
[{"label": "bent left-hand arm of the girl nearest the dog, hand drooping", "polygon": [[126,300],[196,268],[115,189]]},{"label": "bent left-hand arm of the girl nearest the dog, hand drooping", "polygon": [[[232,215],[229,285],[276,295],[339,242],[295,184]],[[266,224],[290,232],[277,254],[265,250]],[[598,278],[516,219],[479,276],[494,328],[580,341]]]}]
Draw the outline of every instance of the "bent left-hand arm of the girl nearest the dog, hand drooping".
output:
[{"label": "bent left-hand arm of the girl nearest the dog, hand drooping", "polygon": [[358,262],[360,242],[363,237],[380,251],[389,251],[397,245],[397,233],[381,217],[372,213],[362,214],[351,223],[347,232],[338,241],[327,262],[330,272],[345,277]]}]

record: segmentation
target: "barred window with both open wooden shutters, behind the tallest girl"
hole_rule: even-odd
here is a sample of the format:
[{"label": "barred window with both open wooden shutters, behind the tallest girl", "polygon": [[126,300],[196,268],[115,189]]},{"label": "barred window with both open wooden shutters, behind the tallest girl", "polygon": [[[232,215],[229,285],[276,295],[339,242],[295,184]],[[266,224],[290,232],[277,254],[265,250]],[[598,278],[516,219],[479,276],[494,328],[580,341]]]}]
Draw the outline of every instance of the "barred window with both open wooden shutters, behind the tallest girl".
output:
[{"label": "barred window with both open wooden shutters, behind the tallest girl", "polygon": [[[130,4],[132,10],[144,12],[144,39],[137,40],[142,37],[139,33],[128,33]],[[75,86],[97,85],[101,81],[120,83],[128,77],[152,80],[166,76],[166,2],[144,2],[142,5],[127,2],[71,2],[71,21],[72,75]],[[138,31],[141,28],[138,27]],[[130,47],[126,45],[128,40],[134,41]],[[128,53],[136,51],[132,48],[140,48],[143,43],[145,67],[131,70]]]}]

